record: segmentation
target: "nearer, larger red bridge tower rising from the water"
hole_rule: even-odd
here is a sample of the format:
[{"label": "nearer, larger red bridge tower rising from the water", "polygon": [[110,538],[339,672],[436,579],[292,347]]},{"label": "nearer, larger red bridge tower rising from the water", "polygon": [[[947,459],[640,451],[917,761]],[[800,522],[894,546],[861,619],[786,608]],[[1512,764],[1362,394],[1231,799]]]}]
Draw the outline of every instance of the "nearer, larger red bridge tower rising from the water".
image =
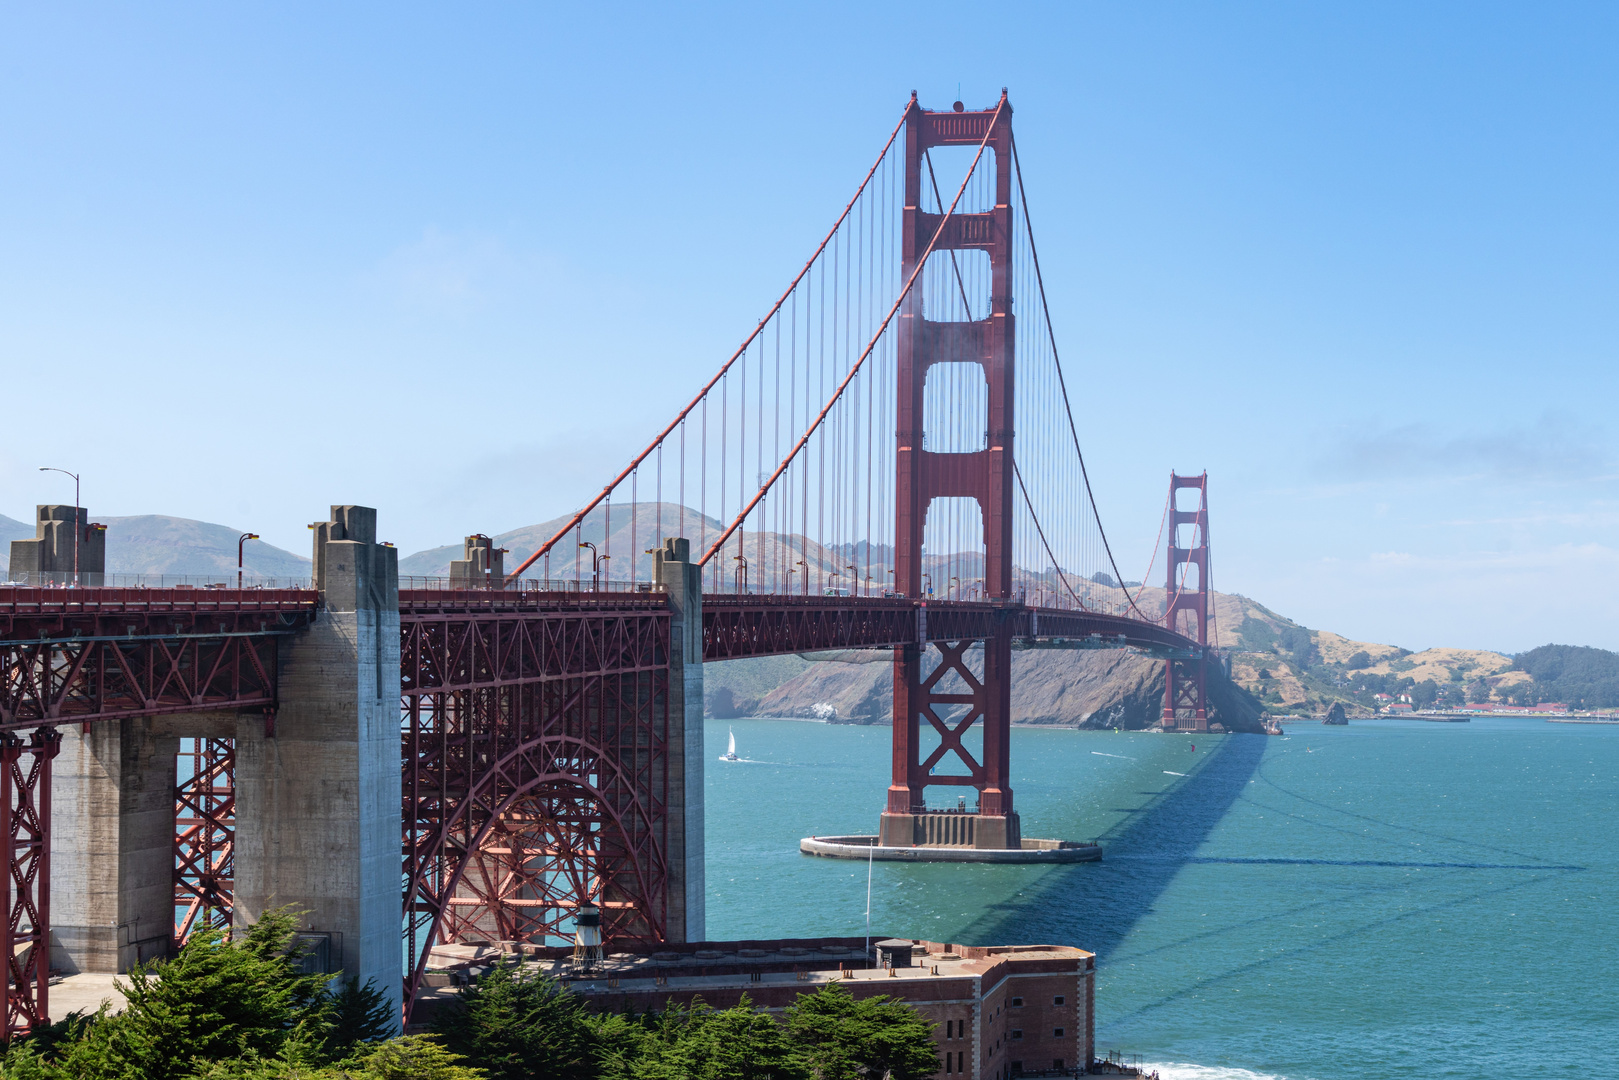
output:
[{"label": "nearer, larger red bridge tower rising from the water", "polygon": [[[988,141],[986,141],[988,136]],[[924,154],[936,146],[984,144],[979,168],[994,170],[994,207],[984,212],[957,212],[944,222],[923,210],[923,185],[934,186]],[[949,193],[944,193],[949,198]],[[989,309],[979,319],[928,319],[923,293],[926,274],[918,277],[899,319],[899,424],[895,445],[895,588],[905,596],[923,596],[923,526],[934,499],[967,497],[978,504],[984,538],[984,596],[992,604],[1012,602],[1012,431],[1013,431],[1013,325],[1012,325],[1012,105],[1005,91],[996,108],[928,112],[911,96],[905,115],[905,217],[902,223],[900,280],[910,280],[918,259],[934,233],[934,259],[954,261],[958,251],[989,256]],[[952,282],[955,285],[957,282]],[[963,290],[965,293],[965,290]],[[965,296],[963,296],[965,298]],[[941,303],[944,298],[934,298]],[[986,445],[981,450],[947,453],[924,445],[923,387],[928,369],[942,363],[971,363],[983,369],[988,389]],[[937,445],[937,444],[936,444]],[[923,617],[926,607],[923,607]],[[926,842],[926,790],[929,785],[970,785],[978,790],[979,813],[973,821],[973,845],[981,848],[1020,847],[1018,818],[1012,808],[1009,777],[1012,721],[1012,636],[1009,630],[984,640],[983,678],[965,661],[970,641],[942,643],[942,662],[923,678],[923,649],[894,651],[894,763],[887,810],[882,813],[879,844],[910,847]],[[941,693],[954,672],[968,693]],[[945,722],[936,706],[967,706],[965,716]],[[921,758],[921,724],[939,732],[939,746]],[[979,724],[983,761],[962,745],[963,733]],[[967,774],[936,776],[933,767],[954,755],[950,766]],[[941,769],[942,772],[942,769]]]}]

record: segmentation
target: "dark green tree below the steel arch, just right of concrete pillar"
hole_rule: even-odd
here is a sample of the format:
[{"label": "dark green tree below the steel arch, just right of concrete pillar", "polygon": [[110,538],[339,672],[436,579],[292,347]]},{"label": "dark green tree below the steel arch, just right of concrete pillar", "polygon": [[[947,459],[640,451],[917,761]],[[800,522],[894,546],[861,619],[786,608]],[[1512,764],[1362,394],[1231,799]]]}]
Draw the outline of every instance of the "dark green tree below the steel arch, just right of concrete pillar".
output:
[{"label": "dark green tree below the steel arch, just right of concrete pillar", "polygon": [[539,973],[499,963],[444,1010],[434,1028],[492,1080],[591,1080],[584,1002]]}]

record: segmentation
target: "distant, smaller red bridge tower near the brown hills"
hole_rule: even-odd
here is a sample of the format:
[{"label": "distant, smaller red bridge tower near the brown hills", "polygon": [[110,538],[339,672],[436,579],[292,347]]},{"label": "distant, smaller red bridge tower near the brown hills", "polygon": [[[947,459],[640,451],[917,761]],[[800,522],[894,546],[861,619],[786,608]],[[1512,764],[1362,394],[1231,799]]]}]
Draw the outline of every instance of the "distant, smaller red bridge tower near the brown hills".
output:
[{"label": "distant, smaller red bridge tower near the brown hills", "polygon": [[[1164,625],[1196,638],[1195,657],[1164,661],[1164,730],[1206,732],[1209,648],[1209,474],[1169,474],[1169,563],[1164,580]],[[1182,510],[1180,492],[1195,489],[1198,505]],[[1188,534],[1182,538],[1182,528]],[[1182,544],[1185,539],[1185,544]],[[1185,617],[1182,617],[1185,614]],[[1192,623],[1192,625],[1187,625]]]}]

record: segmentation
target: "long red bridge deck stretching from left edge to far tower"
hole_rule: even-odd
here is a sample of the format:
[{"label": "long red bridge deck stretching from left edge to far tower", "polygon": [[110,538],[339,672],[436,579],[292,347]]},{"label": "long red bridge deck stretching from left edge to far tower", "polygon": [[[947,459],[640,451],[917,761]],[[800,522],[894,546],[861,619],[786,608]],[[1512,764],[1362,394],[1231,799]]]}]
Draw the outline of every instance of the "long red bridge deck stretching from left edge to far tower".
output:
[{"label": "long red bridge deck stretching from left edge to far tower", "polygon": [[[314,589],[0,588],[0,730],[136,716],[274,709],[277,644],[314,619]],[[623,641],[667,617],[662,593],[402,589],[405,693],[643,669]],[[852,596],[703,597],[703,659],[975,641],[1192,656],[1161,625],[1022,604]],[[652,661],[656,662],[656,661]]]}]

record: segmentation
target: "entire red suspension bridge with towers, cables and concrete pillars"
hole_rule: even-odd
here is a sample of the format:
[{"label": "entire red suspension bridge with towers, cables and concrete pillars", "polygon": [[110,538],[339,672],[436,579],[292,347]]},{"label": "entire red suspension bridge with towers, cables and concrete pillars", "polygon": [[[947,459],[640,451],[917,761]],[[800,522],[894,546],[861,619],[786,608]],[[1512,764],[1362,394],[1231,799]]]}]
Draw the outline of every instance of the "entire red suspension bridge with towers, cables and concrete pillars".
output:
[{"label": "entire red suspension bridge with towers, cables and concrete pillars", "polygon": [[[447,580],[400,580],[376,512],[334,507],[314,588],[0,588],[6,1031],[45,1022],[53,965],[125,970],[272,895],[309,910],[334,970],[379,981],[398,978],[403,925],[406,1010],[434,944],[554,941],[584,904],[609,942],[701,939],[704,661],[889,651],[879,842],[918,842],[944,787],[976,793],[979,847],[1017,848],[1015,646],[1159,656],[1162,727],[1209,719],[1206,476],[1171,474],[1166,599],[1146,606],[1096,512],[1085,406],[1009,99],[911,96],[735,353],[510,573],[471,536]],[[134,780],[96,764],[142,738],[168,777],[146,787],[173,808],[146,870],[173,887],[134,912],[76,891],[151,848],[128,839]],[[73,793],[53,798],[66,758]],[[311,785],[330,836],[304,857]],[[73,827],[53,824],[63,800]],[[87,842],[96,814],[110,847]],[[168,926],[102,949],[52,920],[87,926],[96,904],[120,926],[167,905]]]}]

